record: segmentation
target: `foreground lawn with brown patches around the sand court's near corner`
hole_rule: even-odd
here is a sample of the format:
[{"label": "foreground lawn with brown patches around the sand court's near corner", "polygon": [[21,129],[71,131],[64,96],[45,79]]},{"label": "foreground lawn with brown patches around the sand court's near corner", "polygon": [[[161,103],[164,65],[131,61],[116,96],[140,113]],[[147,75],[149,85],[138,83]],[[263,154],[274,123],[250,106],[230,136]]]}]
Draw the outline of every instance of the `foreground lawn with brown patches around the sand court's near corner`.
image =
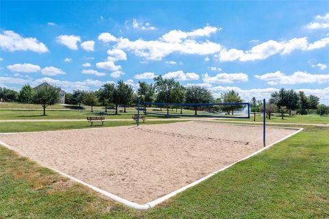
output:
[{"label": "foreground lawn with brown patches around the sand court's near corner", "polygon": [[147,211],[0,146],[0,218],[329,218],[329,129],[306,127]]}]

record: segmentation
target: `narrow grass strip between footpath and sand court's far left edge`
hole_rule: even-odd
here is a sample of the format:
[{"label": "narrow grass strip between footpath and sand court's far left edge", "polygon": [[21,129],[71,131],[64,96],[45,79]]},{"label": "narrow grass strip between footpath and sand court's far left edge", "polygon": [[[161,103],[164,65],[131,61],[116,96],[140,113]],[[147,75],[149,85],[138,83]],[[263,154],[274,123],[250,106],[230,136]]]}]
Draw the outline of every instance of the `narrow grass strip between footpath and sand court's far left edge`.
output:
[{"label": "narrow grass strip between footpath and sand court's far left edge", "polygon": [[[177,123],[178,120],[160,120],[160,121],[146,121],[140,123],[141,125],[150,124],[164,124],[164,123]],[[123,125],[136,125],[135,121],[106,121],[102,126],[101,123],[95,122],[93,127],[90,127],[90,123],[85,122],[10,122],[0,123],[0,133],[10,132],[24,132],[24,131],[54,131],[62,129],[88,129],[99,127],[115,127]]]}]

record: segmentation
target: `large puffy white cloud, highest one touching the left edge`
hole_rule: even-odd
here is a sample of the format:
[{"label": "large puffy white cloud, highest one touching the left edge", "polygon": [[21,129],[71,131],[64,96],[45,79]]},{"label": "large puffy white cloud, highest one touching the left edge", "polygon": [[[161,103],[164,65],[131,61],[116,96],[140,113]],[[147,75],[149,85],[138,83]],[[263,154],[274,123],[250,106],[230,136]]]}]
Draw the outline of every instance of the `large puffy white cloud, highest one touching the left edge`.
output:
[{"label": "large puffy white cloud, highest one touching the left edge", "polygon": [[0,48],[7,51],[34,51],[46,53],[48,48],[36,38],[23,38],[14,31],[5,30],[0,34]]}]

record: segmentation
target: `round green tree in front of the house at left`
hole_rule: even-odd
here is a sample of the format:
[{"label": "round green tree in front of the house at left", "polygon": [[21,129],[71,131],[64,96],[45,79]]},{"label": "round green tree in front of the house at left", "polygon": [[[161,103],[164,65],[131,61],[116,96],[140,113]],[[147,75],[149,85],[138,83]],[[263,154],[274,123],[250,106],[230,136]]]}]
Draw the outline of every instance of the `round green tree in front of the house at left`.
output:
[{"label": "round green tree in front of the house at left", "polygon": [[46,115],[46,108],[49,105],[54,105],[60,100],[60,88],[56,86],[45,85],[34,92],[32,103],[42,105],[43,116]]}]

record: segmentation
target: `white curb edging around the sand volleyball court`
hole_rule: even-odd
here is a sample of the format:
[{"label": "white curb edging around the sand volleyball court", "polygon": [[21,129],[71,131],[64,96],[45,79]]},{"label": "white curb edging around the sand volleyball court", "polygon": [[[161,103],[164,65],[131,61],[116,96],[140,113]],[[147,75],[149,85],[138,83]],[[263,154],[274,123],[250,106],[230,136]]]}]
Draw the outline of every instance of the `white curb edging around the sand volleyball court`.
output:
[{"label": "white curb edging around the sand volleyball court", "polygon": [[[284,127],[282,127],[282,128],[284,128]],[[80,129],[77,129],[77,130],[80,130]],[[103,194],[104,196],[107,196],[108,198],[111,198],[114,201],[117,201],[119,203],[122,203],[123,205],[127,205],[128,207],[132,207],[132,208],[138,209],[138,210],[145,210],[145,209],[149,209],[151,207],[154,207],[154,206],[156,206],[156,205],[158,205],[158,204],[166,201],[167,199],[175,196],[176,194],[178,194],[180,192],[183,192],[184,190],[187,190],[188,188],[193,187],[194,185],[197,185],[197,184],[201,183],[202,181],[205,181],[206,179],[212,177],[213,175],[216,175],[218,172],[221,172],[223,170],[226,170],[227,168],[230,168],[231,166],[233,166],[233,165],[235,165],[235,164],[237,164],[239,162],[242,162],[243,160],[248,159],[249,157],[252,157],[252,156],[254,156],[254,155],[256,155],[256,154],[258,154],[258,153],[260,153],[262,151],[265,151],[265,150],[269,149],[274,144],[278,144],[279,142],[282,142],[283,140],[286,140],[287,138],[290,138],[291,136],[294,136],[295,134],[297,134],[297,133],[299,133],[300,131],[303,131],[303,130],[304,130],[303,128],[297,129],[297,131],[295,131],[294,133],[291,133],[290,135],[285,136],[284,138],[282,138],[282,139],[280,139],[280,140],[278,140],[278,141],[276,141],[276,142],[274,142],[272,144],[269,144],[268,146],[266,146],[263,149],[260,149],[260,150],[258,150],[256,152],[252,153],[251,155],[247,155],[246,157],[243,157],[242,159],[239,159],[238,161],[236,161],[236,162],[234,162],[234,163],[232,163],[232,164],[230,164],[228,166],[225,166],[225,167],[223,167],[223,168],[221,168],[221,169],[219,169],[219,170],[217,170],[215,172],[210,173],[206,177],[203,177],[201,179],[198,179],[197,181],[194,181],[193,183],[190,183],[188,185],[185,185],[184,187],[182,187],[182,188],[180,188],[178,190],[175,190],[175,191],[173,191],[173,192],[171,192],[171,193],[169,193],[169,194],[167,194],[165,196],[162,196],[160,198],[157,198],[156,200],[151,201],[151,202],[146,203],[146,204],[143,204],[143,205],[140,205],[138,203],[134,203],[132,201],[128,201],[125,198],[121,198],[119,196],[116,196],[115,194],[112,194],[110,192],[106,192],[105,190],[101,190],[100,188],[97,188],[94,185],[90,185],[90,184],[88,184],[88,183],[86,183],[84,181],[81,181],[80,179],[77,179],[77,178],[72,177],[70,175],[66,175],[64,172],[61,172],[59,170],[56,170],[56,169],[53,169],[53,168],[49,168],[49,167],[47,167],[47,168],[49,168],[49,169],[51,169],[51,170],[53,170],[55,172],[58,172],[60,175],[63,175],[64,177],[68,177],[69,179],[72,179],[73,181],[76,181],[77,183],[82,183],[82,185],[86,185],[88,188],[90,188],[92,190],[95,190],[96,192],[99,192],[99,193]],[[23,132],[23,133],[26,133],[26,132]],[[10,134],[10,133],[1,133],[1,134]],[[6,148],[8,148],[8,149],[10,149],[12,151],[15,151],[11,146],[9,146],[8,144],[5,144],[4,142],[1,142],[0,141],[0,144],[2,144],[3,146],[5,146]]]}]

